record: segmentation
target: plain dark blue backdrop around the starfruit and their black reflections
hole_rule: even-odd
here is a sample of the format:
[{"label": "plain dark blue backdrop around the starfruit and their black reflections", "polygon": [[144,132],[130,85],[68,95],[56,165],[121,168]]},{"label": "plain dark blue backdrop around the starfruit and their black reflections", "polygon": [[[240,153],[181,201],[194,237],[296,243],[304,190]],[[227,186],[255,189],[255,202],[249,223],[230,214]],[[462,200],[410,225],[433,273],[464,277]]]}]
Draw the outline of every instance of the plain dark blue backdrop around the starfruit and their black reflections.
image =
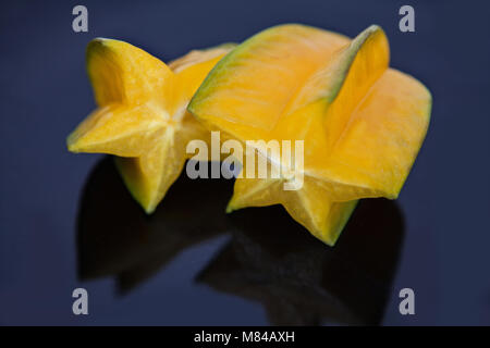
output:
[{"label": "plain dark blue backdrop around the starfruit and their black reflections", "polygon": [[[72,30],[78,3],[88,8],[85,34]],[[490,7],[408,3],[416,13],[416,33],[408,34],[397,27],[405,1],[392,0],[2,3],[0,323],[268,323],[257,301],[194,282],[230,239],[226,234],[185,249],[125,296],[114,294],[110,276],[81,283],[76,216],[100,157],[69,153],[65,137],[95,108],[84,62],[94,37],[123,39],[168,61],[297,22],[348,36],[381,25],[391,65],[416,76],[433,96],[427,139],[397,201],[404,240],[382,323],[490,324]],[[183,214],[193,219],[191,210]],[[90,294],[84,318],[71,311],[78,286]],[[414,316],[399,313],[403,287],[416,293]]]}]

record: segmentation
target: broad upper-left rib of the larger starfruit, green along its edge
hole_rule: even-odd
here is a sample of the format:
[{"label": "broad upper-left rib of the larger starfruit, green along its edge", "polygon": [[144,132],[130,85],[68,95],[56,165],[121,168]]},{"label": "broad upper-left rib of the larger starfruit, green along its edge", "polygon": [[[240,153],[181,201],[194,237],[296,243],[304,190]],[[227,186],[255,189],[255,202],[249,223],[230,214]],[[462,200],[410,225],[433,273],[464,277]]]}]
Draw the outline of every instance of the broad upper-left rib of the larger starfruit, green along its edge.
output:
[{"label": "broad upper-left rib of the larger starfruit, green along its edge", "polygon": [[303,25],[266,29],[215,67],[191,109],[206,122],[250,133],[246,139],[264,139],[297,89],[347,44],[344,36]]}]

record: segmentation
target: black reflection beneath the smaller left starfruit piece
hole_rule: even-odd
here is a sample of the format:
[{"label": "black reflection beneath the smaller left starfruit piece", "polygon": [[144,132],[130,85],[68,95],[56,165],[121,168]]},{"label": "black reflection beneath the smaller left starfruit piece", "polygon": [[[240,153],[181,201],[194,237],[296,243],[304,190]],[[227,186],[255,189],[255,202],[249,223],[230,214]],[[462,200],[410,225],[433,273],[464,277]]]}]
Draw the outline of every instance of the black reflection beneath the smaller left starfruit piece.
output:
[{"label": "black reflection beneath the smaller left starfruit piece", "polygon": [[79,277],[113,275],[121,293],[132,290],[183,250],[226,233],[229,216],[222,208],[232,185],[231,181],[191,179],[184,173],[166,203],[147,216],[124,189],[112,159],[103,159],[91,171],[79,204]]}]

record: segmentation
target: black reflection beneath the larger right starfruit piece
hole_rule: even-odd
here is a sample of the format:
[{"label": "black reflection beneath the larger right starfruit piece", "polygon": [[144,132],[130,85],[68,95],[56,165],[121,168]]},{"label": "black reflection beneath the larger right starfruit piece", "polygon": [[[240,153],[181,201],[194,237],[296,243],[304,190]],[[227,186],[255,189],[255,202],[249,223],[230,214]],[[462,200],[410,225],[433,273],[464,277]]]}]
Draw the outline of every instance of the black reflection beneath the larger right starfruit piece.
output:
[{"label": "black reflection beneath the larger right starfruit piece", "polygon": [[199,283],[260,302],[272,325],[381,322],[404,236],[395,202],[362,201],[335,248],[305,234],[278,206],[237,211],[230,226],[232,239]]}]

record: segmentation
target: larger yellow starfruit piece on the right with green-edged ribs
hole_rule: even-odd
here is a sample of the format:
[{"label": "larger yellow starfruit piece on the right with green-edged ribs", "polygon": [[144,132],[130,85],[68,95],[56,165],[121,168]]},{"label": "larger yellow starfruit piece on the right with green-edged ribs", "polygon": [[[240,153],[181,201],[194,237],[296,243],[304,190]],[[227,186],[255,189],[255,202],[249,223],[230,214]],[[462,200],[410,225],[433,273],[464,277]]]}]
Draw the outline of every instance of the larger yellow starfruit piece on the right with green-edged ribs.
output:
[{"label": "larger yellow starfruit piece on the right with green-edged ribs", "polygon": [[[316,237],[333,245],[355,200],[396,198],[430,117],[429,91],[389,69],[384,33],[353,40],[282,25],[246,40],[221,60],[188,110],[241,141],[304,140],[304,185],[277,153],[255,146],[280,178],[238,178],[229,211],[281,203]],[[244,163],[246,172],[247,163]],[[293,173],[293,175],[291,175]]]}]

